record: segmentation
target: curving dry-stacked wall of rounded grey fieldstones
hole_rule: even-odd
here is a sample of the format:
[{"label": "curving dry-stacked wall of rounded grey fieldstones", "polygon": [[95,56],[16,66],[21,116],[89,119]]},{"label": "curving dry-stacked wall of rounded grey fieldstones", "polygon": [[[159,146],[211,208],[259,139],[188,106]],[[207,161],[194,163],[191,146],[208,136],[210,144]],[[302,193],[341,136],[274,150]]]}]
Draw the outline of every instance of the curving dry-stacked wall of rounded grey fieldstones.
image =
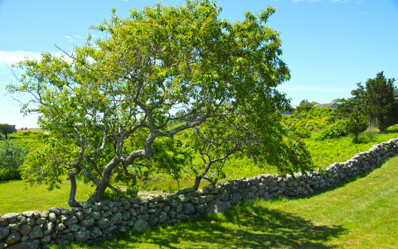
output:
[{"label": "curving dry-stacked wall of rounded grey fieldstones", "polygon": [[374,167],[398,153],[398,138],[390,139],[351,159],[328,166],[320,172],[294,176],[263,174],[183,195],[150,195],[139,198],[112,198],[82,207],[50,208],[45,211],[9,213],[0,216],[0,249],[47,248],[54,243],[91,242],[127,229],[142,231],[159,224],[193,219],[208,212],[222,212],[240,201],[277,196],[308,195],[330,187]]}]

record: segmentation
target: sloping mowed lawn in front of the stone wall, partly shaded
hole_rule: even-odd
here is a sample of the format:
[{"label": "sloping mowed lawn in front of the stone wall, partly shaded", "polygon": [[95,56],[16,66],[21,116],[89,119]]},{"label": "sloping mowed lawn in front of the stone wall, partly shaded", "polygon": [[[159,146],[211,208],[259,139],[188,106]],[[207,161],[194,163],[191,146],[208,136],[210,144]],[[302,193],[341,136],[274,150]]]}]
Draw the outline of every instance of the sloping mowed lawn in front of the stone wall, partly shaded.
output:
[{"label": "sloping mowed lawn in front of the stone wall, partly shaded", "polygon": [[398,248],[397,178],[398,156],[311,196],[240,203],[222,214],[66,248]]}]

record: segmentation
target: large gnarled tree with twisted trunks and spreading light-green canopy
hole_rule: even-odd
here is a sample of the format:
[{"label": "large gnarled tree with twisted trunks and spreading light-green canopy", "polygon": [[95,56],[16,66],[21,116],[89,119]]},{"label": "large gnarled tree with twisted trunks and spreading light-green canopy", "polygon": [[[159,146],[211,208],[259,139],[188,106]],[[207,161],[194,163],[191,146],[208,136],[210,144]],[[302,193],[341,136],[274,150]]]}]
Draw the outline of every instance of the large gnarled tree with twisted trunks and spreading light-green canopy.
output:
[{"label": "large gnarled tree with twisted trunks and spreading light-green canopy", "polygon": [[[113,9],[109,21],[92,27],[106,32],[106,39],[92,42],[89,36],[72,53],[43,53],[40,61],[15,65],[25,73],[8,92],[30,95],[21,102],[22,112],[40,113],[40,127],[51,131],[49,143],[29,155],[23,177],[53,189],[59,176],[68,174],[68,204],[76,207],[84,206],[75,200],[76,179],[96,185],[87,200],[94,203],[113,187],[115,174],[133,187],[137,172],[144,177],[166,172],[178,179],[189,150],[203,151],[197,147],[203,143],[224,148],[213,155],[218,161],[220,153],[226,158],[241,152],[275,163],[282,173],[311,169],[302,142],[289,139],[288,129],[278,124],[278,110],[290,105],[275,87],[290,73],[278,57],[279,33],[265,25],[275,8],[246,12],[235,23],[219,19],[221,10],[207,0],[187,1],[130,10],[121,19]],[[173,117],[175,108],[186,113]],[[188,129],[187,147],[166,142]],[[281,144],[286,145],[276,146]],[[160,164],[164,156],[175,163]],[[208,171],[197,178],[207,179]]]}]

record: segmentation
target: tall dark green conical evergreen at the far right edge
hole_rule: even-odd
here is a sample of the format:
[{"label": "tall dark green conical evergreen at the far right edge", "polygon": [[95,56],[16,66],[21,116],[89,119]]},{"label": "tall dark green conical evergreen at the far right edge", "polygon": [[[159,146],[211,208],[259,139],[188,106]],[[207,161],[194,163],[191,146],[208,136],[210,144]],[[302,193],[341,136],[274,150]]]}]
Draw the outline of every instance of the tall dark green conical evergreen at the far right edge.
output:
[{"label": "tall dark green conical evergreen at the far right edge", "polygon": [[377,128],[381,132],[398,123],[398,96],[394,81],[395,78],[387,80],[383,71],[366,81],[368,115],[377,120]]}]

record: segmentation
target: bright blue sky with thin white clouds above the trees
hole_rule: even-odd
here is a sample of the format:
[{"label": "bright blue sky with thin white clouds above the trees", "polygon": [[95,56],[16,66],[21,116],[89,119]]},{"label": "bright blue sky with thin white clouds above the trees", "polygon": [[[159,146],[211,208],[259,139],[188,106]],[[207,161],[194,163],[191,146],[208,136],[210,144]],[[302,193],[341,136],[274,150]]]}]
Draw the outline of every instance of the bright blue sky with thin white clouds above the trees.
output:
[{"label": "bright blue sky with thin white clouds above the trees", "polygon": [[[164,0],[163,5],[182,1]],[[298,104],[302,99],[329,103],[350,97],[358,82],[384,71],[398,79],[398,0],[219,0],[220,15],[242,20],[245,11],[260,12],[269,4],[277,7],[269,27],[281,32],[281,58],[291,69],[291,80],[280,91]],[[91,25],[109,19],[111,8],[125,17],[129,9],[153,6],[136,0],[0,0],[0,123],[37,127],[34,115],[23,117],[4,96],[13,79],[6,64],[40,52],[55,53],[82,46]],[[19,72],[21,73],[21,71]]]}]

